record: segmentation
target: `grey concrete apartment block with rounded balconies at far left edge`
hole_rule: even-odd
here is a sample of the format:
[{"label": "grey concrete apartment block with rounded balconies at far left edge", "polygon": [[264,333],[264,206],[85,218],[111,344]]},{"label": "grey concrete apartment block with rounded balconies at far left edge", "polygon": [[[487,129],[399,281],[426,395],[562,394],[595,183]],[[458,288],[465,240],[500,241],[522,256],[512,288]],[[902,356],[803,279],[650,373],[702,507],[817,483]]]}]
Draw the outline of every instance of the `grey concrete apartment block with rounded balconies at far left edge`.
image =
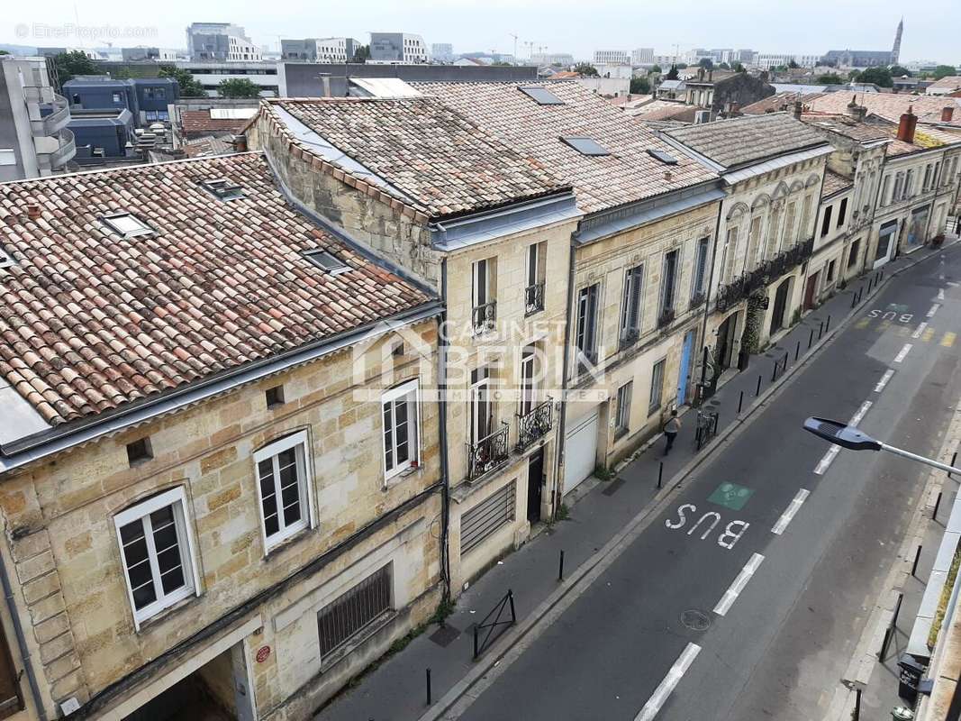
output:
[{"label": "grey concrete apartment block with rounded balconies at far left edge", "polygon": [[0,57],[0,182],[63,172],[77,152],[69,122],[45,59]]}]

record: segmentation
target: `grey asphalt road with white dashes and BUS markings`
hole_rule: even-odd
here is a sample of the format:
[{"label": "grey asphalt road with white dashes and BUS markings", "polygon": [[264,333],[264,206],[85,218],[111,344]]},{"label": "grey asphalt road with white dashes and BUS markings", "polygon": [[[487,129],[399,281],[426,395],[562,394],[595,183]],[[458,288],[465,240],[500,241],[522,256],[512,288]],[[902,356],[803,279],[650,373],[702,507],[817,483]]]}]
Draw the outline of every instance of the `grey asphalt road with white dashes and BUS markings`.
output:
[{"label": "grey asphalt road with white dashes and BUS markings", "polygon": [[801,422],[860,415],[936,452],[961,394],[961,252],[942,258],[876,297],[461,718],[822,718],[926,470],[827,455]]}]

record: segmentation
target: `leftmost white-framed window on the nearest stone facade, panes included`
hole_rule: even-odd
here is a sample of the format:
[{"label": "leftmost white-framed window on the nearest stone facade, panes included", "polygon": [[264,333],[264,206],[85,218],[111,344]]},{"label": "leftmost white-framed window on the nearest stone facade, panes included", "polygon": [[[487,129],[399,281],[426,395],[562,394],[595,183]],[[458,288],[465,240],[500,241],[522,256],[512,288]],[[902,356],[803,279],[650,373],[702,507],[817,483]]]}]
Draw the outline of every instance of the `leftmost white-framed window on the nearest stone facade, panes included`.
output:
[{"label": "leftmost white-framed window on the nearest stone facade, panes included", "polygon": [[199,592],[184,488],[174,488],[113,517],[134,609],[140,624]]}]

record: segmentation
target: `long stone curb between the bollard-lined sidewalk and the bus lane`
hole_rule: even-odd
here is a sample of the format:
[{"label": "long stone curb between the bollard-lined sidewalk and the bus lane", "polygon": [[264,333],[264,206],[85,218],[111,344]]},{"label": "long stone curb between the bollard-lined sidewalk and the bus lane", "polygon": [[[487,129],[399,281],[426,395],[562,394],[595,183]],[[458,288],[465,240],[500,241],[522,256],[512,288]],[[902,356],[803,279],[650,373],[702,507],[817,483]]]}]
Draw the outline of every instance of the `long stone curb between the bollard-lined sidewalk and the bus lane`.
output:
[{"label": "long stone curb between the bollard-lined sidewalk and the bus lane", "polygon": [[[948,249],[957,245],[959,242],[961,242],[961,240],[955,240],[943,246],[941,250]],[[819,355],[820,351],[822,351],[828,343],[834,340],[843,329],[848,327],[852,319],[856,317],[858,310],[862,309],[865,304],[874,298],[882,288],[885,288],[892,279],[897,278],[904,271],[934,258],[936,255],[937,252],[925,255],[923,258],[918,258],[916,261],[903,265],[882,279],[861,303],[855,308],[850,309],[850,312],[844,320],[840,321],[833,329],[827,331],[817,343],[811,346],[803,359],[798,360],[794,365],[790,366],[780,378],[769,385],[759,396],[756,396],[755,402],[752,403],[747,410],[736,415],[730,425],[716,435],[702,449],[702,453],[699,456],[696,456],[684,464],[678,472],[665,483],[664,487],[653,496],[645,508],[640,510],[628,521],[624,528],[610,538],[600,551],[583,560],[571,575],[564,581],[559,582],[557,588],[554,589],[536,609],[532,610],[517,626],[508,630],[498,638],[497,641],[491,645],[487,655],[460,681],[454,684],[447,693],[438,699],[431,709],[423,713],[418,721],[437,721],[437,719],[450,721],[456,719],[460,713],[480,696],[480,693],[482,693],[488,685],[492,684],[493,681],[504,672],[513,658],[523,653],[524,648],[526,648],[526,641],[529,639],[531,632],[535,631],[536,627],[540,625],[543,625],[545,628],[550,626],[550,623],[545,624],[544,622],[553,622],[551,617],[559,615],[560,612],[574,603],[586,587],[589,587],[593,577],[603,572],[604,568],[620,556],[620,551],[623,551],[623,548],[633,539],[633,536],[639,534],[647,527],[647,524],[653,520],[653,516],[661,510],[665,501],[678,491],[683,482],[691,476],[705,460],[710,459],[723,443],[726,443],[745,430],[751,424],[757,411],[766,408],[768,403],[774,400],[785,386],[795,378],[801,368],[805,367],[811,360]],[[873,271],[873,273],[875,272],[876,271]],[[655,435],[653,439],[642,448],[644,450],[650,448],[658,437],[659,435]],[[507,659],[508,656],[513,658]],[[507,662],[502,663],[502,661],[505,660],[507,660]],[[451,711],[453,711],[453,713],[449,714]]]}]

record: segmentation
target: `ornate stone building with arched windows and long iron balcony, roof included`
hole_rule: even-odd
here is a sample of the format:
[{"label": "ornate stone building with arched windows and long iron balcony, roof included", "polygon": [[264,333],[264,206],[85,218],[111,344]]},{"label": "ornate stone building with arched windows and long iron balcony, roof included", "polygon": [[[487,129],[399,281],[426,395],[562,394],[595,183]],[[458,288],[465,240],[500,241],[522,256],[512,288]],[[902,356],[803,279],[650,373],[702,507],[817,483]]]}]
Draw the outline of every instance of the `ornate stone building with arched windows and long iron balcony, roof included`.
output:
[{"label": "ornate stone building with arched windows and long iron balcony, roof included", "polygon": [[801,315],[831,146],[786,113],[668,129],[662,136],[719,173],[726,189],[710,272],[708,381],[714,385]]}]

